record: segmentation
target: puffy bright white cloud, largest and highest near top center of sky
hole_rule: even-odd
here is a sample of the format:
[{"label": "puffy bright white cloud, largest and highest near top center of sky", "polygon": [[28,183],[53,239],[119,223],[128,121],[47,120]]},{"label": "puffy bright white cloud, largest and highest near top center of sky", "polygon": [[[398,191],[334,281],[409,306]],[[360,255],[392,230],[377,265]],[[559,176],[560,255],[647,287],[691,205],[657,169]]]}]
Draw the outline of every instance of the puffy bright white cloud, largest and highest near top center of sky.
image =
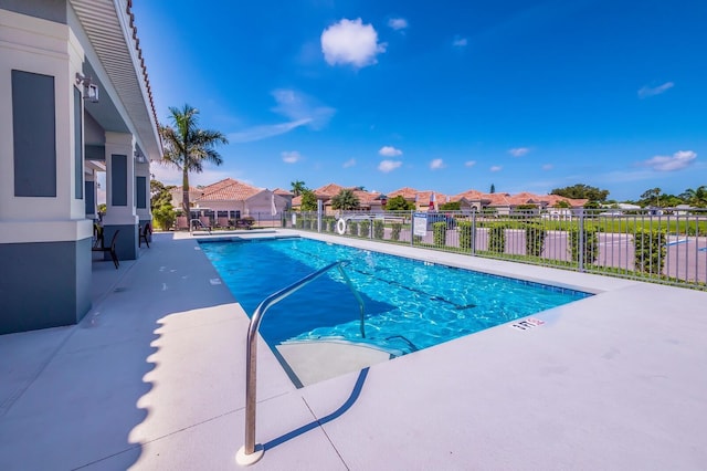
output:
[{"label": "puffy bright white cloud, largest and highest near top center of sky", "polygon": [[344,19],[321,33],[321,52],[329,65],[351,64],[365,67],[374,64],[376,55],[386,52],[386,43],[378,42],[378,33],[361,19]]}]

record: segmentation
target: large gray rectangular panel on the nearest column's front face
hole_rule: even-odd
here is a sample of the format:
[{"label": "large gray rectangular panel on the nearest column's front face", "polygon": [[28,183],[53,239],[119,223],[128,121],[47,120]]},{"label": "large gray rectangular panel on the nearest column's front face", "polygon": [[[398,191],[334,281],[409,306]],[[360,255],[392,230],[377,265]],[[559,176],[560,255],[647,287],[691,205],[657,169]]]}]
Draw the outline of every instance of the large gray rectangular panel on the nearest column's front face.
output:
[{"label": "large gray rectangular panel on the nearest column's front face", "polygon": [[54,115],[54,77],[12,71],[15,197],[56,197]]}]

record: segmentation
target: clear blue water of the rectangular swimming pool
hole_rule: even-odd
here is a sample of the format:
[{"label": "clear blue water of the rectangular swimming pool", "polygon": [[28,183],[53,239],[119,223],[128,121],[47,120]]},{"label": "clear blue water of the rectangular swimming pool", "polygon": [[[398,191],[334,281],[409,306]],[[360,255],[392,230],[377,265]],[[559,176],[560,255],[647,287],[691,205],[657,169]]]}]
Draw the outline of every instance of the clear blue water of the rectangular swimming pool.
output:
[{"label": "clear blue water of the rectangular swimming pool", "polygon": [[201,249],[249,315],[270,294],[345,260],[363,299],[337,270],[271,307],[261,334],[285,341],[341,338],[410,353],[588,296],[572,290],[435,265],[309,239],[202,242]]}]

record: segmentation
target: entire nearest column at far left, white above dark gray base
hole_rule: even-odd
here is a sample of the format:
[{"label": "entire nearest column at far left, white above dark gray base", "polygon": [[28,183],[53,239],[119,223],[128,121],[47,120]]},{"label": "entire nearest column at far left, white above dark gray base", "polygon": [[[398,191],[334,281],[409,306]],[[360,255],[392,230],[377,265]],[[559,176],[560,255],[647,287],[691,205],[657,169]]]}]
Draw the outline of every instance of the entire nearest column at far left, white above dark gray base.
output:
[{"label": "entire nearest column at far left, white above dark gray base", "polygon": [[83,61],[66,24],[1,10],[0,334],[75,324],[91,308]]}]

